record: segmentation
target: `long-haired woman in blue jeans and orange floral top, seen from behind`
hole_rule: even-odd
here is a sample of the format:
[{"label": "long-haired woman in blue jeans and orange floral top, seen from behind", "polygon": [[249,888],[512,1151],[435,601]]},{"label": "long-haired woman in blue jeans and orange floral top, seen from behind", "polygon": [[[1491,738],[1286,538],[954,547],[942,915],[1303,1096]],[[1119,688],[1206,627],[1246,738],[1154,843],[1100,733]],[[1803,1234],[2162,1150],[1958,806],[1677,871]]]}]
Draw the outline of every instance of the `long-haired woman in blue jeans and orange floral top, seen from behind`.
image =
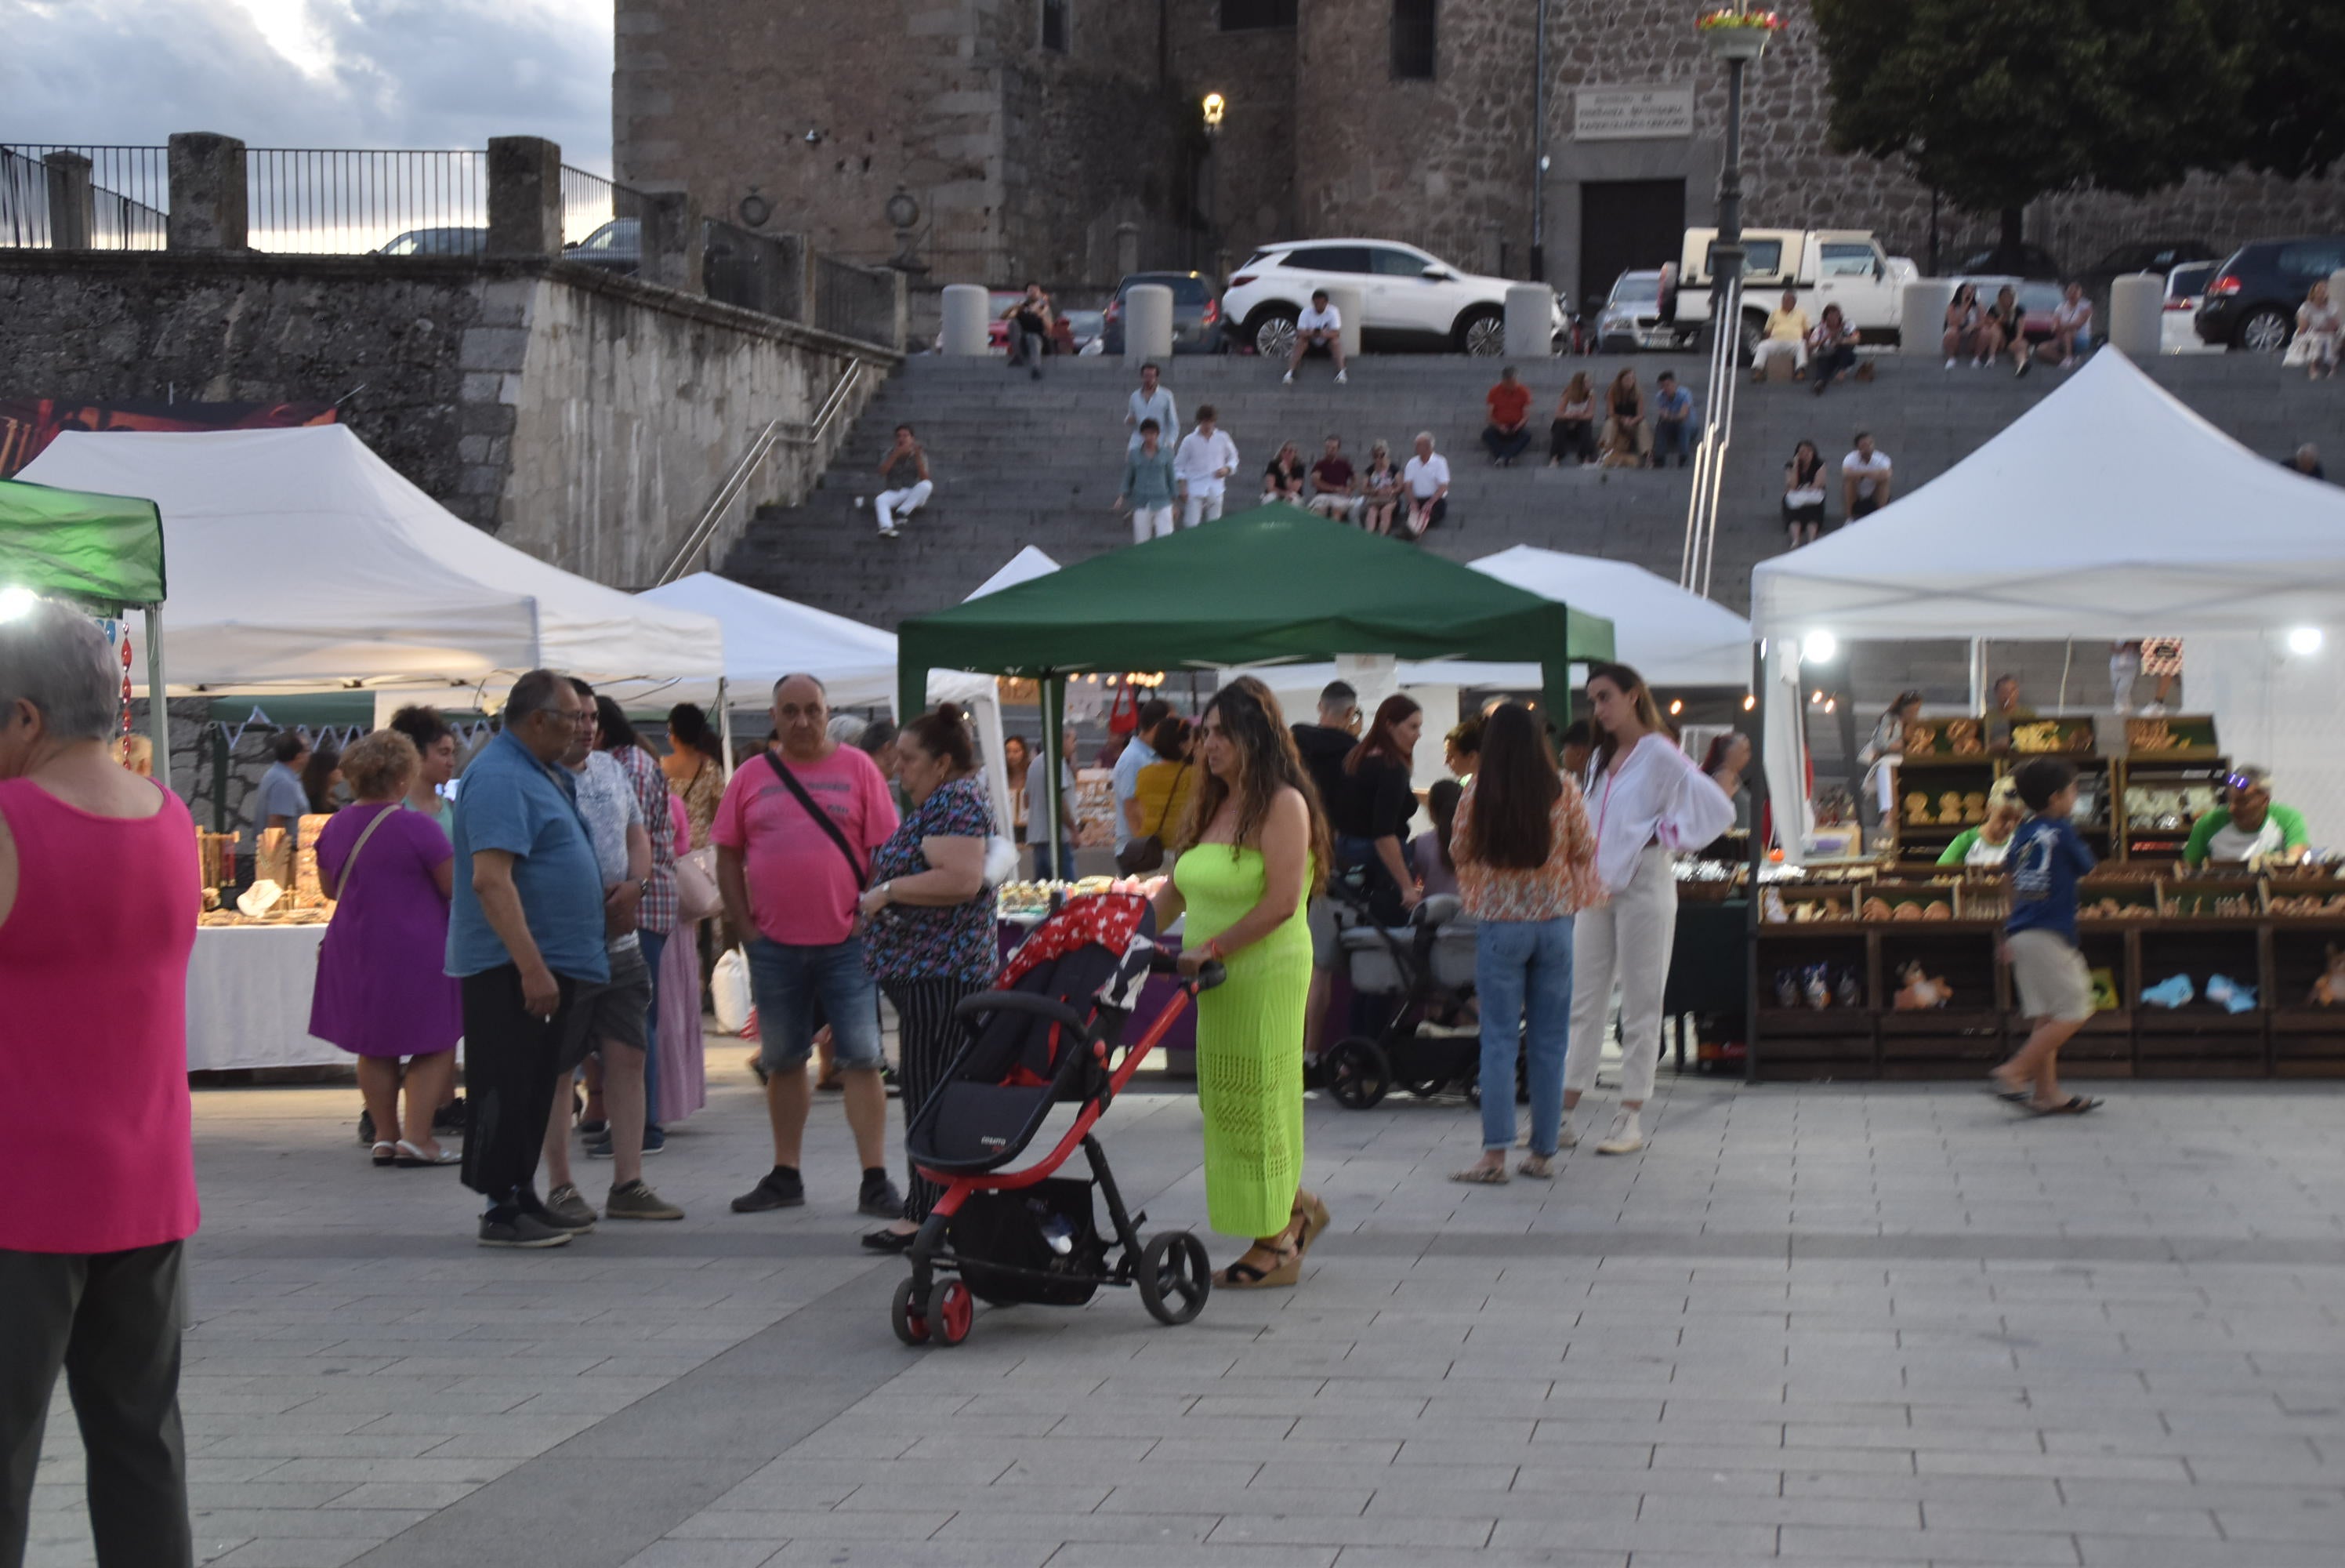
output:
[{"label": "long-haired woman in blue jeans and orange floral top, seen from behind", "polygon": [[1503,704],[1482,725],[1482,758],[1449,831],[1459,892],[1475,927],[1482,1005],[1482,1157],[1452,1181],[1498,1185],[1515,1148],[1515,1054],[1531,1080],[1524,1176],[1555,1176],[1571,1042],[1571,915],[1604,899],[1597,836],[1578,784],[1531,711]]}]

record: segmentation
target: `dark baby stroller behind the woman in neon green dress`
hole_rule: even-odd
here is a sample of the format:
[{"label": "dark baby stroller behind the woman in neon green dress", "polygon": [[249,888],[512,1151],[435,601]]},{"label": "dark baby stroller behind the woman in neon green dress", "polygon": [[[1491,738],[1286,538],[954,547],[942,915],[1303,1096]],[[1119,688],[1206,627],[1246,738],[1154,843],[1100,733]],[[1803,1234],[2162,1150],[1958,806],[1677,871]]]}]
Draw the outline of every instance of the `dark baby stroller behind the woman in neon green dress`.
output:
[{"label": "dark baby stroller behind the woman in neon green dress", "polygon": [[[1344,887],[1332,883],[1334,897]],[[1437,894],[1391,930],[1337,918],[1337,948],[1353,995],[1388,1009],[1374,1035],[1337,1040],[1320,1054],[1318,1084],[1346,1110],[1367,1110],[1393,1084],[1433,1099],[1452,1084],[1475,1094],[1482,1070],[1482,1030],[1473,1019],[1475,922],[1459,901]]]}]

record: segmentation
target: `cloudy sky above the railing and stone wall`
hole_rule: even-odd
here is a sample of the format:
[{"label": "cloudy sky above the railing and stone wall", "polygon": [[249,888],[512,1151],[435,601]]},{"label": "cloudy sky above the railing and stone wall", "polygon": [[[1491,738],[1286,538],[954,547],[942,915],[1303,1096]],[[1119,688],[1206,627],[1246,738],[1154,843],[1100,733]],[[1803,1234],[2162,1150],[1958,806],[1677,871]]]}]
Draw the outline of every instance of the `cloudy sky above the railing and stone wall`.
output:
[{"label": "cloudy sky above the railing and stone wall", "polygon": [[478,148],[610,171],[610,0],[0,0],[0,141]]}]

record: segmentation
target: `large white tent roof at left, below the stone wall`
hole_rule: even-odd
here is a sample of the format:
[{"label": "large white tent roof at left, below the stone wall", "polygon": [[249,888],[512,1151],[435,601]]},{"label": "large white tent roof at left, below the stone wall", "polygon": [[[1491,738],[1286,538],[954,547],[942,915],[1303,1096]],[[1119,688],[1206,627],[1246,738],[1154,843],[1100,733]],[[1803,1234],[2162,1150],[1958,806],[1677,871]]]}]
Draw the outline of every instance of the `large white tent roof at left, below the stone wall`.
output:
[{"label": "large white tent roof at left, below the stone wall", "polygon": [[174,690],[711,681],[722,631],[499,545],[342,425],[68,432],[21,479],[162,509]]}]

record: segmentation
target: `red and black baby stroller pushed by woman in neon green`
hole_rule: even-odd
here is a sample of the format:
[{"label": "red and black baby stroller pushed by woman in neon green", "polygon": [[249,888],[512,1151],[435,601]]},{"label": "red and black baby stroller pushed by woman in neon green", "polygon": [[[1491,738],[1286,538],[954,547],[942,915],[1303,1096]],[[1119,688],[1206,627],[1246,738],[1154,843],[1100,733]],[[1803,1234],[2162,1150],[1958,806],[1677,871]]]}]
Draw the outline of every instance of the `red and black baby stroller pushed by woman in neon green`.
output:
[{"label": "red and black baby stroller pushed by woman in neon green", "polygon": [[[1142,984],[1170,969],[1149,901],[1100,892],[1053,911],[1011,953],[997,988],[959,1005],[968,1045],[905,1129],[912,1162],[945,1185],[912,1237],[912,1275],[889,1310],[905,1345],[959,1345],[978,1300],[1076,1307],[1102,1284],[1137,1286],[1161,1324],[1187,1324],[1203,1310],[1212,1289],[1205,1244],[1187,1230],[1142,1242],[1149,1216],[1126,1214],[1107,1153],[1090,1136],[1182,1009],[1222,981],[1222,965],[1208,962],[1147,1035],[1126,1045]],[[1055,1106],[1079,1106],[1074,1124],[1048,1155],[1006,1171]],[[1076,1148],[1090,1162],[1088,1178],[1058,1174]],[[1107,1199],[1109,1235],[1100,1235],[1093,1185]]]}]

